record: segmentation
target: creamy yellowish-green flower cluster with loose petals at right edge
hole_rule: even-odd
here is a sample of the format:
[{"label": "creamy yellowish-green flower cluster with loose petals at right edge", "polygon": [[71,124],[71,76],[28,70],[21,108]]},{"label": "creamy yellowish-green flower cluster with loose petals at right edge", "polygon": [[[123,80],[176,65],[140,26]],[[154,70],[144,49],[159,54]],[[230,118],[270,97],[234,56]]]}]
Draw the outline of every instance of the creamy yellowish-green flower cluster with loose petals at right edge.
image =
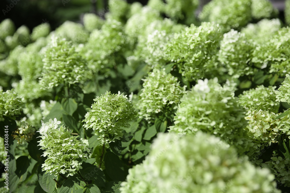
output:
[{"label": "creamy yellowish-green flower cluster with loose petals at right edge", "polygon": [[279,114],[269,111],[250,110],[245,117],[249,120],[247,130],[255,142],[263,142],[264,144],[277,143],[278,137],[285,133],[290,135],[290,121],[284,118],[276,119]]}]

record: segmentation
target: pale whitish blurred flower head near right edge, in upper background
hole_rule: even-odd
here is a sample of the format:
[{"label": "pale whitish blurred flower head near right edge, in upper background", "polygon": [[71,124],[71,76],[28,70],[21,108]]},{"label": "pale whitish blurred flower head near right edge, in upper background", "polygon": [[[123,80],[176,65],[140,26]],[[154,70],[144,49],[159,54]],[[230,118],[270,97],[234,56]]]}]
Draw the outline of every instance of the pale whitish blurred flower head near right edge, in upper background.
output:
[{"label": "pale whitish blurred flower head near right edge, in upper background", "polygon": [[249,23],[241,33],[249,40],[265,43],[281,28],[280,19],[262,19],[258,23]]}]

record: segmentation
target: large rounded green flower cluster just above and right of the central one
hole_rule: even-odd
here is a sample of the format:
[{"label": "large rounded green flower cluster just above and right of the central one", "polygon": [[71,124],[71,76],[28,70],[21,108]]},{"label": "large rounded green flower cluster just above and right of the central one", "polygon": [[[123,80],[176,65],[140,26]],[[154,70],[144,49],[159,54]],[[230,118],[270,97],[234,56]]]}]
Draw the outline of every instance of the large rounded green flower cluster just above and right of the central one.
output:
[{"label": "large rounded green flower cluster just above and right of the central one", "polygon": [[203,78],[206,73],[212,76],[221,35],[218,24],[203,22],[198,27],[192,24],[174,34],[165,54],[168,61],[177,63],[186,81]]}]

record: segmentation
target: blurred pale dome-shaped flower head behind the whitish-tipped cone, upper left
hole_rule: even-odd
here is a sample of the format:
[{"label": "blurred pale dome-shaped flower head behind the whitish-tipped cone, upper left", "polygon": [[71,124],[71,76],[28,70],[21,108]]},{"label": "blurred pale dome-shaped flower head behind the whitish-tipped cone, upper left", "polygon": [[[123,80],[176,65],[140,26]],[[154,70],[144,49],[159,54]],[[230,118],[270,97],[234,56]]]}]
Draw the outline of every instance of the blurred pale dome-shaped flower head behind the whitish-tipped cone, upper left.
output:
[{"label": "blurred pale dome-shaped flower head behind the whitish-tipped cone, upper left", "polygon": [[55,34],[75,44],[85,43],[89,37],[89,33],[84,29],[84,26],[72,21],[64,22],[55,30]]}]

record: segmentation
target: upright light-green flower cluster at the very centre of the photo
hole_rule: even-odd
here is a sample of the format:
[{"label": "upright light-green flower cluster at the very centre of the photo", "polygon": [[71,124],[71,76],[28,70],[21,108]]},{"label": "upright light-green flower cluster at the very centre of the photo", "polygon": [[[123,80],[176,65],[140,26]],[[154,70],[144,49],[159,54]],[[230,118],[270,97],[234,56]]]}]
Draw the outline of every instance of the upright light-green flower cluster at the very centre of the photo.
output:
[{"label": "upright light-green flower cluster at the very centre of the photo", "polygon": [[177,109],[186,86],[181,87],[177,78],[170,73],[166,74],[165,69],[153,69],[153,72],[142,80],[143,89],[137,104],[140,118],[145,118],[149,123],[159,116],[172,119],[174,109]]}]

